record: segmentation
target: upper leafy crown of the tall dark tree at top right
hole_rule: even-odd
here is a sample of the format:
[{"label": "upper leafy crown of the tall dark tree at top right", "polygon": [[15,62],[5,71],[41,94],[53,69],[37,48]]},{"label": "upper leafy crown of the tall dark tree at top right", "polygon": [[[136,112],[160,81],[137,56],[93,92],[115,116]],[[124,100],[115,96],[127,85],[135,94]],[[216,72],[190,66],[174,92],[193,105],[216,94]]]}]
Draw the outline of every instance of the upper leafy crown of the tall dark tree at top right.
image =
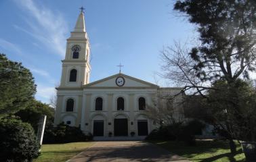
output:
[{"label": "upper leafy crown of the tall dark tree at top right", "polygon": [[255,0],[182,0],[174,9],[200,34],[201,45],[190,53],[198,78],[233,82],[255,71]]}]

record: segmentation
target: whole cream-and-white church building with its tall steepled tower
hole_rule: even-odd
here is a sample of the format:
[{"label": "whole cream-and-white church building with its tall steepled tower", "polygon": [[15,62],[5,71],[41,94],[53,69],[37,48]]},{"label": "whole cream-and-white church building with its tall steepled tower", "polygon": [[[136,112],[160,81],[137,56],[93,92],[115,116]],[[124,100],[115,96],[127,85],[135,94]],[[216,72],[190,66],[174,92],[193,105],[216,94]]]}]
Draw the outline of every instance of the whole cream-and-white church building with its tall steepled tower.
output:
[{"label": "whole cream-and-white church building with its tall steepled tower", "polygon": [[158,94],[177,94],[181,88],[161,88],[122,73],[89,82],[90,52],[82,10],[67,39],[66,57],[62,60],[55,126],[64,122],[81,128],[85,134],[102,137],[147,136],[158,124],[148,118],[145,109],[156,106]]}]

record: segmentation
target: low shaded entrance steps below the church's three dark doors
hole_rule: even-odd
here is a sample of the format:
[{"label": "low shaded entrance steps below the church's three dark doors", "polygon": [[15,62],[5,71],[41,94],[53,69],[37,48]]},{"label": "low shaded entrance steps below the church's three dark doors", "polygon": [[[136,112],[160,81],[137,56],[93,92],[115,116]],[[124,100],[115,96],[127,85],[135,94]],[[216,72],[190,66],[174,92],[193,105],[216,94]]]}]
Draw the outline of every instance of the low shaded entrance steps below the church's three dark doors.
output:
[{"label": "low shaded entrance steps below the church's three dark doors", "polygon": [[103,136],[95,136],[93,140],[95,141],[125,141],[125,140],[144,140],[146,136],[112,136],[112,137],[103,137]]}]

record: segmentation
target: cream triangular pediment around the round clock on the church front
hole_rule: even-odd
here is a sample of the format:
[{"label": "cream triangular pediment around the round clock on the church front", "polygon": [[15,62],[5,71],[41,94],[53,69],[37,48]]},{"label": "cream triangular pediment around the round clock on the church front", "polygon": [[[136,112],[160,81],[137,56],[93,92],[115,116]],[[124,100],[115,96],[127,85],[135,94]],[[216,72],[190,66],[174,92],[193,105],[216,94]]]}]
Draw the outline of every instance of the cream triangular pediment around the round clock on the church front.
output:
[{"label": "cream triangular pediment around the round clock on the church front", "polygon": [[[124,84],[123,86],[118,86],[116,84],[116,78],[123,78]],[[90,88],[129,88],[129,87],[140,87],[140,88],[158,88],[156,84],[152,84],[150,82],[145,82],[144,80],[140,80],[137,78],[133,78],[131,76],[127,76],[125,74],[119,73],[115,74],[113,76],[109,76],[108,78],[104,78],[102,80],[98,80],[95,82],[91,82],[89,84],[86,84],[84,87],[90,87]]]}]

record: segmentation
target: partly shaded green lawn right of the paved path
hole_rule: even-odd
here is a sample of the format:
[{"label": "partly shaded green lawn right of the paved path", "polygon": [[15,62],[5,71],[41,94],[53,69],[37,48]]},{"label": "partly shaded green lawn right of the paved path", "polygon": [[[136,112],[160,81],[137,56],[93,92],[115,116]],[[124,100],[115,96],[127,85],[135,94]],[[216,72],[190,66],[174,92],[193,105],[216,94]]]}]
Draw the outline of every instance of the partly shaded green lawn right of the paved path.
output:
[{"label": "partly shaded green lawn right of the paved path", "polygon": [[244,154],[240,144],[237,143],[238,153],[232,155],[230,153],[228,141],[196,141],[196,146],[186,146],[184,142],[174,141],[152,141],[152,143],[161,146],[171,153],[175,153],[181,157],[186,157],[196,162],[228,162],[228,161],[245,161]]}]

